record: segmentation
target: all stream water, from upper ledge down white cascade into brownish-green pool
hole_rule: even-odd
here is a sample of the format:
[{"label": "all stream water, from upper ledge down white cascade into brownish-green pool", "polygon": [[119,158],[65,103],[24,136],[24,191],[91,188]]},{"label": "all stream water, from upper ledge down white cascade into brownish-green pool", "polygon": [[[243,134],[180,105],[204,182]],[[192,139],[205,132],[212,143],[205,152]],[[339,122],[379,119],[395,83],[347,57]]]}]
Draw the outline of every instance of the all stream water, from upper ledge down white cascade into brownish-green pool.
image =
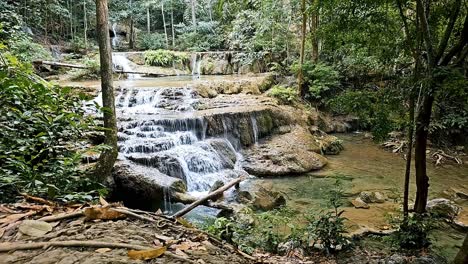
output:
[{"label": "all stream water, from upper ledge down white cascade into brownish-green pool", "polygon": [[[115,59],[115,57],[114,57]],[[131,67],[125,57],[118,57],[121,67]],[[194,74],[198,74],[195,72]],[[199,99],[191,88],[197,82],[236,80],[231,76],[175,76],[142,78],[129,76],[117,80],[115,86],[116,108],[119,119],[119,158],[130,161],[133,169],[151,176],[155,168],[186,182],[187,190],[194,196],[206,194],[216,181],[227,182],[246,172],[241,169],[239,138],[233,135],[223,118],[223,132],[207,136],[205,116],[197,110]],[[99,87],[97,81],[68,82],[66,85]],[[101,99],[96,98],[100,103]],[[224,106],[223,106],[224,107]],[[235,106],[230,106],[235,107]],[[222,108],[221,108],[222,109]],[[259,144],[255,115],[251,115],[253,142]],[[252,177],[241,184],[244,190],[255,191],[262,186],[281,192],[287,199],[287,207],[297,211],[297,222],[303,222],[303,213],[319,211],[326,202],[324,197],[334,182],[335,175],[343,177],[344,191],[352,199],[361,191],[379,191],[389,199],[382,204],[371,204],[370,209],[355,209],[345,205],[350,231],[363,227],[388,228],[386,214],[396,212],[402,193],[404,164],[401,154],[385,151],[363,134],[337,135],[345,149],[336,156],[327,156],[328,165],[319,171],[299,176],[281,178]],[[223,151],[220,151],[222,149]],[[226,152],[235,153],[234,156]],[[468,193],[468,165],[428,165],[430,199],[446,197],[451,189]],[[414,179],[414,176],[411,177]],[[415,193],[414,180],[411,194]],[[413,196],[410,197],[413,200]],[[459,204],[463,210],[457,221],[468,224],[468,203]],[[166,212],[176,211],[168,199]],[[203,221],[214,217],[217,210],[200,207],[188,217]]]}]

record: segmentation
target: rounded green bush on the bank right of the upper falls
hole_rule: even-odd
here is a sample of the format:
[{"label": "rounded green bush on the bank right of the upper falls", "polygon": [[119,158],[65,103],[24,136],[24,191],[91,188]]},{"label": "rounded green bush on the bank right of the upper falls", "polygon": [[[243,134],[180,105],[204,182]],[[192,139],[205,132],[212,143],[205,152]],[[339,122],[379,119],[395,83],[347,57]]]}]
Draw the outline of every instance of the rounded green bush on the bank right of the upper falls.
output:
[{"label": "rounded green bush on the bank right of the upper falls", "polygon": [[[300,68],[299,64],[291,67],[296,74]],[[304,84],[308,87],[307,98],[320,105],[323,105],[341,86],[338,72],[326,64],[305,62],[302,65],[302,73]]]}]

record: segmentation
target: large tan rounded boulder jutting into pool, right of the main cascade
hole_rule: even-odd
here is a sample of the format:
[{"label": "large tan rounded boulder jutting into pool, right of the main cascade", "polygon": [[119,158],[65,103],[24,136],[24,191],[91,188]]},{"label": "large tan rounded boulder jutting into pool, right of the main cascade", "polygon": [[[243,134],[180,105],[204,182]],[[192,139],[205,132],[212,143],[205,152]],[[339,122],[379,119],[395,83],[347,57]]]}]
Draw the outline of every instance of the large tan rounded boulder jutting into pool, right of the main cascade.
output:
[{"label": "large tan rounded boulder jutting into pool, right of the main cascade", "polygon": [[318,170],[327,164],[307,129],[296,127],[291,133],[274,136],[244,150],[243,168],[250,174],[285,176]]}]

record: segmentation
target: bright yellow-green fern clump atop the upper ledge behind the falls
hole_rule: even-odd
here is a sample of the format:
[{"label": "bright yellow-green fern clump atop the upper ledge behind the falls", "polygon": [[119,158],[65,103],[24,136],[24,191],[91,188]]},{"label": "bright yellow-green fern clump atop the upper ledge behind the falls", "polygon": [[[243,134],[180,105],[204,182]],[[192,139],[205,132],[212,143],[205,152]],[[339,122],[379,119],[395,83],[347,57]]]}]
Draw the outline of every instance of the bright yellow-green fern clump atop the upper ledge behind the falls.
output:
[{"label": "bright yellow-green fern clump atop the upper ledge behind the falls", "polygon": [[188,59],[185,52],[171,50],[148,50],[145,52],[145,63],[151,66],[171,67],[173,64],[186,64]]}]

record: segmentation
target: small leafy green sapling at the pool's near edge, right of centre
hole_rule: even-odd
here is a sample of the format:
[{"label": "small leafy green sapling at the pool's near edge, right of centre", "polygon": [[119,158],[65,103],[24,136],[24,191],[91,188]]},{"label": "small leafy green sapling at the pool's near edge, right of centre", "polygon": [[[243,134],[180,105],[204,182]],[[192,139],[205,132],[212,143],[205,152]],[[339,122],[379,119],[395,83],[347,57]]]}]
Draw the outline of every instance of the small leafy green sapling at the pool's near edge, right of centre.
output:
[{"label": "small leafy green sapling at the pool's near edge, right of centre", "polygon": [[343,193],[341,180],[337,177],[333,188],[328,193],[328,206],[331,210],[307,217],[310,239],[314,244],[320,241],[327,254],[335,252],[338,247],[344,247],[348,243],[343,236],[346,233],[344,226],[346,218],[341,216],[344,211],[339,210],[343,205]]}]

